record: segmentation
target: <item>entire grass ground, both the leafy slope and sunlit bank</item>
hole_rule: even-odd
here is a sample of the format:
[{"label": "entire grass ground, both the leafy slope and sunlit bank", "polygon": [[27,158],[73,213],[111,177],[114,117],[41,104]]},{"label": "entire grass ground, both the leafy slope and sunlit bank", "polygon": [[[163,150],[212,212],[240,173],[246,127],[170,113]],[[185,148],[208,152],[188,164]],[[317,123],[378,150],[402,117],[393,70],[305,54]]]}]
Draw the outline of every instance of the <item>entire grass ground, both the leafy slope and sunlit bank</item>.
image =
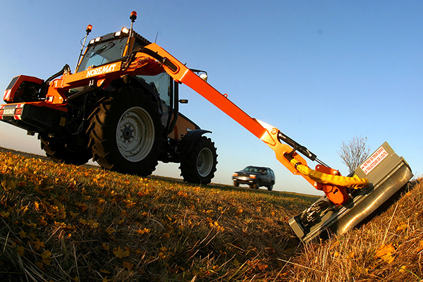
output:
[{"label": "entire grass ground, both the leafy slope and sunlit bank", "polygon": [[140,178],[0,153],[0,281],[421,281],[423,188],[302,244],[314,196]]}]

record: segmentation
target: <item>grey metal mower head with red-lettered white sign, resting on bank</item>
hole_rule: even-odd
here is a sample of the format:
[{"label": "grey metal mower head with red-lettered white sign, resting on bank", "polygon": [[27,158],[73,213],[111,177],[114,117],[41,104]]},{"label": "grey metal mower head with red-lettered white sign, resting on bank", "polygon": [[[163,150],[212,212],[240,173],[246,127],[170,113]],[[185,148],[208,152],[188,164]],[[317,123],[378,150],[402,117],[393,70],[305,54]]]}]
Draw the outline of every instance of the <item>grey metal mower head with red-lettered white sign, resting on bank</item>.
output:
[{"label": "grey metal mower head with red-lettered white sign, resting on bank", "polygon": [[370,155],[352,176],[367,178],[369,185],[350,193],[348,202],[336,206],[326,196],[319,198],[289,225],[302,241],[324,238],[328,233],[341,235],[371,216],[412,178],[410,166],[387,142]]}]

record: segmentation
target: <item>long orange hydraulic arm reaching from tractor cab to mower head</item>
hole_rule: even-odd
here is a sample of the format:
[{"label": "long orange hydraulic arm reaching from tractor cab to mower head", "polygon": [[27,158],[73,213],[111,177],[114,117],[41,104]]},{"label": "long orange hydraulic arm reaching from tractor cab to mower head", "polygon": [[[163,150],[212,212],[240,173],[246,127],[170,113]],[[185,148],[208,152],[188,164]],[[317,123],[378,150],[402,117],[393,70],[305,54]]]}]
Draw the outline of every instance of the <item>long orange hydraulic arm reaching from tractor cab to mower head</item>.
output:
[{"label": "long orange hydraulic arm reaching from tractor cab to mower head", "polygon": [[[326,166],[317,159],[315,154],[309,152],[306,147],[303,147],[290,139],[290,137],[281,133],[281,130],[278,130],[278,128],[248,116],[242,109],[228,99],[227,94],[221,94],[155,43],[135,50],[128,57],[128,61],[125,62],[125,67],[139,66],[140,62],[145,61],[146,58],[159,61],[166,73],[171,75],[173,80],[195,90],[195,92],[202,95],[202,97],[214,104],[214,106],[217,106],[221,111],[266,143],[266,145],[274,150],[276,159],[283,166],[286,166],[291,173],[295,175],[299,174],[305,178],[314,188],[323,190],[329,200],[334,204],[344,204],[348,200],[348,188],[357,189],[369,185],[367,178],[341,176],[339,171]],[[309,168],[307,161],[298,153],[303,154],[312,161],[317,161],[319,164],[316,166],[316,169]]]}]

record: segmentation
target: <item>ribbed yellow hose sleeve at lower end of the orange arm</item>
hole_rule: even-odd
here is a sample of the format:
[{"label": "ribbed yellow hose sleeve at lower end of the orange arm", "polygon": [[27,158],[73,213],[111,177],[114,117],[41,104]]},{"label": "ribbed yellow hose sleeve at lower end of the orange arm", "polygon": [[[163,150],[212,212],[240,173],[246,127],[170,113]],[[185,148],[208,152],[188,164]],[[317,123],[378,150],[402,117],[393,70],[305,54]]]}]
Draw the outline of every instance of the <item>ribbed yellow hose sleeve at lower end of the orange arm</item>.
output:
[{"label": "ribbed yellow hose sleeve at lower end of the orange arm", "polygon": [[361,189],[369,185],[369,180],[367,180],[367,178],[359,178],[358,176],[332,176],[331,174],[314,171],[314,169],[301,164],[297,159],[291,159],[290,163],[293,164],[300,173],[319,183],[344,186],[353,189]]}]

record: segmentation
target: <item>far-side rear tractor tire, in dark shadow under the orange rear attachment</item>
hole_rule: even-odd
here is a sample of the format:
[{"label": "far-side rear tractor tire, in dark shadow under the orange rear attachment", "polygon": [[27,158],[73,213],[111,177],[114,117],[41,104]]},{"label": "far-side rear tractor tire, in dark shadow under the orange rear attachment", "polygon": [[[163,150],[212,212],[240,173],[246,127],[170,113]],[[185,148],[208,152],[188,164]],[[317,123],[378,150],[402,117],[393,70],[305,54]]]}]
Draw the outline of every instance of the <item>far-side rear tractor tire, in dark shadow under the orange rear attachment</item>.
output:
[{"label": "far-side rear tractor tire, in dark shadow under the orange rear attachment", "polygon": [[[79,166],[92,159],[92,153],[87,147],[87,142],[78,140],[77,137],[69,136],[63,138],[63,140],[58,140],[55,137],[39,135],[38,138],[41,141],[41,149],[46,152],[47,157],[57,163]],[[70,140],[73,140],[73,142]]]}]

